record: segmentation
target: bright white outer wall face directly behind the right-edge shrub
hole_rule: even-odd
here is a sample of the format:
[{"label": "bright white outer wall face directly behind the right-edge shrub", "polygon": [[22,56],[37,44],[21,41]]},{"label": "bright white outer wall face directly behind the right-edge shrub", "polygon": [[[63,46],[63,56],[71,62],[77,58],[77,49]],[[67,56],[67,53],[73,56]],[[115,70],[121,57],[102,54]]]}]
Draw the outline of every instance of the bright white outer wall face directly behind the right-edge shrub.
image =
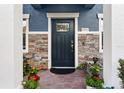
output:
[{"label": "bright white outer wall face directly behind the right-edge shrub", "polygon": [[124,58],[124,5],[112,5],[112,84],[120,88],[118,60]]}]

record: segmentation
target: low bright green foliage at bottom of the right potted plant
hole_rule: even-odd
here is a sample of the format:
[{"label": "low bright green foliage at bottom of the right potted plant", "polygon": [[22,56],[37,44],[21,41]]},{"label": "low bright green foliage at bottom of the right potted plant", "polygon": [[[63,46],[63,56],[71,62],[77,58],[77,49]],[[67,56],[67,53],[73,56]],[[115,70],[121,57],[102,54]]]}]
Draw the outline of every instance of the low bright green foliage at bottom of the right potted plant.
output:
[{"label": "low bright green foliage at bottom of the right potted plant", "polygon": [[86,84],[88,86],[97,88],[97,89],[102,89],[103,88],[103,79],[99,78],[99,77],[92,77],[92,76],[87,76],[86,77]]}]

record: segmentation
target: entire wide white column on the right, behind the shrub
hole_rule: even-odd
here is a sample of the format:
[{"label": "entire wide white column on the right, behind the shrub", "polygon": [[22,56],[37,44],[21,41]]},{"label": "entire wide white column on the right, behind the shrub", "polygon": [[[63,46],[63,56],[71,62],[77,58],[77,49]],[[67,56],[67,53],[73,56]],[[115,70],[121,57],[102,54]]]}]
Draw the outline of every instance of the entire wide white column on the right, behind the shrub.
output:
[{"label": "entire wide white column on the right, behind the shrub", "polygon": [[121,88],[118,60],[124,58],[124,5],[104,6],[104,80]]}]

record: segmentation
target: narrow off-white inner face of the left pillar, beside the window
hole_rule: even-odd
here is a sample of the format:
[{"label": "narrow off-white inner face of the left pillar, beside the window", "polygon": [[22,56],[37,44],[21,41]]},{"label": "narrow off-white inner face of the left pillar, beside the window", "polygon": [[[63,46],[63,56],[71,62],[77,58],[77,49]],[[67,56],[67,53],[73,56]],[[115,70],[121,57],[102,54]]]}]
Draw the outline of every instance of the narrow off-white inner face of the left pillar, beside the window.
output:
[{"label": "narrow off-white inner face of the left pillar, beside the window", "polygon": [[23,80],[22,9],[22,5],[14,5],[14,88],[22,88]]}]

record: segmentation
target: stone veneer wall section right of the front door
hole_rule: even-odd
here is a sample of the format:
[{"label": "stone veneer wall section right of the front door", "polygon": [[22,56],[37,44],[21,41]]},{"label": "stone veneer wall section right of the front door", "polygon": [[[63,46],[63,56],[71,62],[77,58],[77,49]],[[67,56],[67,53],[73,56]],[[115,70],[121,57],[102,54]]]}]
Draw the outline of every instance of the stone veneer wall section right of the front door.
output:
[{"label": "stone veneer wall section right of the front door", "polygon": [[78,59],[79,63],[91,62],[93,57],[98,57],[102,64],[103,54],[99,53],[98,34],[79,34],[78,35]]}]

